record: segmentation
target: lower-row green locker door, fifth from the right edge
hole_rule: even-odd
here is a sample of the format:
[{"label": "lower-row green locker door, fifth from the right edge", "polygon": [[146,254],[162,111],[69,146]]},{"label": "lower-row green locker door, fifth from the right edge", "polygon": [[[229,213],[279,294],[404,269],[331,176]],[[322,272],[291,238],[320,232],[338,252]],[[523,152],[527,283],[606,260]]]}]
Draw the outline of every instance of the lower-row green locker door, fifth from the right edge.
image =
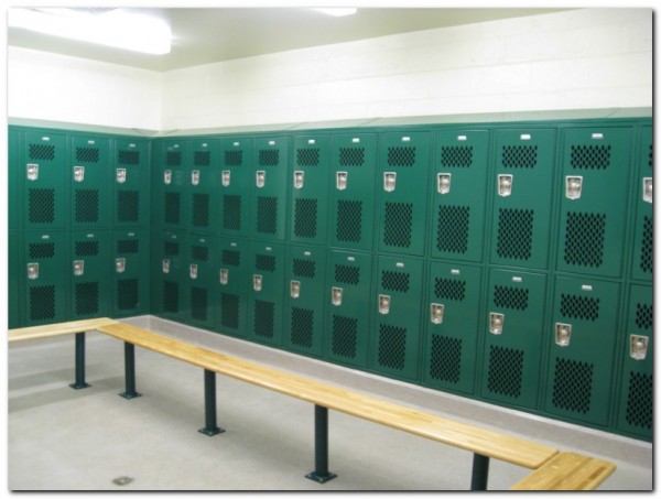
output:
[{"label": "lower-row green locker door, fifth from the right edge", "polygon": [[420,377],[423,261],[379,257],[376,295],[370,303],[371,362],[376,371],[409,381]]}]

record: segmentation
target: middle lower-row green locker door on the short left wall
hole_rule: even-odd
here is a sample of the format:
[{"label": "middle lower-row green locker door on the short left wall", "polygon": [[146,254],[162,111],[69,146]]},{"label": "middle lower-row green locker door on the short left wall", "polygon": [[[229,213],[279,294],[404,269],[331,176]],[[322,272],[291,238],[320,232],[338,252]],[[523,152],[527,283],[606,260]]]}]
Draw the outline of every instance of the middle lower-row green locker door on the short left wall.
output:
[{"label": "middle lower-row green locker door on the short left wall", "polygon": [[72,231],[71,313],[76,319],[110,314],[108,231]]}]

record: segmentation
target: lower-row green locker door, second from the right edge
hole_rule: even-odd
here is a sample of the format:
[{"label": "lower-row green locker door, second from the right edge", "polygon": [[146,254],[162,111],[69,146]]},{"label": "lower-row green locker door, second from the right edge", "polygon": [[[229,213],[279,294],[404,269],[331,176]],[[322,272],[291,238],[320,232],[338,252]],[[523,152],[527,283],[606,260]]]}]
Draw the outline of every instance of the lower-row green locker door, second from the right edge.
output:
[{"label": "lower-row green locker door, second from the right edge", "polygon": [[605,426],[614,390],[619,284],[556,276],[545,410]]}]

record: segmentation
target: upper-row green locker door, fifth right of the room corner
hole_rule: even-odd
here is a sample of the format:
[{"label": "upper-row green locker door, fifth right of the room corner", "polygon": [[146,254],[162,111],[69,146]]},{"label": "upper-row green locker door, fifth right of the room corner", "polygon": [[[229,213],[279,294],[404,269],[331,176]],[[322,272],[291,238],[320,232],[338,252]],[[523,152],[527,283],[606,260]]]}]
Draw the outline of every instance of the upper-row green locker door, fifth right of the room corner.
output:
[{"label": "upper-row green locker door, fifth right of the room corner", "polygon": [[328,135],[294,137],[290,240],[325,245],[328,231]]}]

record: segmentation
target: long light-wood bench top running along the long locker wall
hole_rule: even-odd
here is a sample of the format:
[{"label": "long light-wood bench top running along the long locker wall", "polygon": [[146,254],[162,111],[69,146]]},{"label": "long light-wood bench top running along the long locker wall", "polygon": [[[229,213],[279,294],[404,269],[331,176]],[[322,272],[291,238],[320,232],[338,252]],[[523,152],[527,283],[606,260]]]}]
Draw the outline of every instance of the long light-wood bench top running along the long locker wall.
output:
[{"label": "long light-wood bench top running along the long locker wall", "polygon": [[330,387],[171,337],[164,337],[129,324],[102,325],[98,327],[98,330],[209,371],[519,466],[538,468],[557,454],[557,449],[546,445],[446,420],[342,388]]}]

